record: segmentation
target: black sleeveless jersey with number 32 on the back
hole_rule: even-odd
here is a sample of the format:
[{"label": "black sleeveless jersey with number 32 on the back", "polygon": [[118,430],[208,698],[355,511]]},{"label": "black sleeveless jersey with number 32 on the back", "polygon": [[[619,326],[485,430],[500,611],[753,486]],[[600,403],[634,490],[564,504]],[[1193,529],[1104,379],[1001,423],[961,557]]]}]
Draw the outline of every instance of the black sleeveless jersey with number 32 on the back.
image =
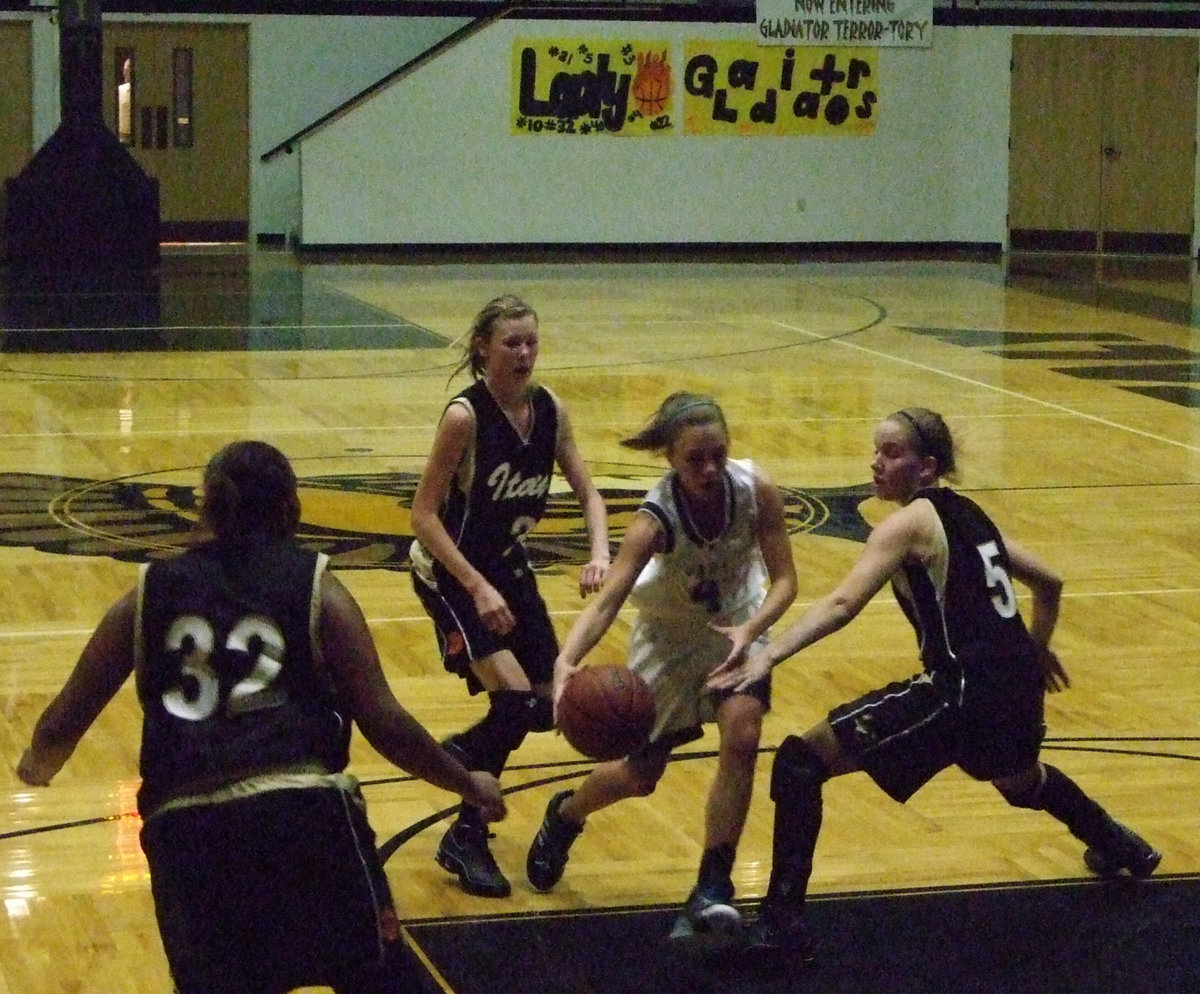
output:
[{"label": "black sleeveless jersey with number 32 on the back", "polygon": [[316,647],[325,562],[257,537],[143,568],[134,643],[143,814],[256,771],[346,767],[350,729]]}]

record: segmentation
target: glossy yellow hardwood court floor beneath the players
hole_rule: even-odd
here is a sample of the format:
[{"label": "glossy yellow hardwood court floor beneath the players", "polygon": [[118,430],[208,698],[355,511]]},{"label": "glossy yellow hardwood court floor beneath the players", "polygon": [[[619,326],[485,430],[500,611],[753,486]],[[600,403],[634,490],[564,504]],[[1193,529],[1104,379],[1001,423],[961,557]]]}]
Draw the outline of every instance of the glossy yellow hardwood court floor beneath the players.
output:
[{"label": "glossy yellow hardwood court floor beneath the players", "polygon": [[[800,595],[857,556],[875,424],[941,411],[959,486],[1067,580],[1056,639],[1074,685],[1049,700],[1046,758],[1164,852],[1200,872],[1200,337],[1188,261],[448,263],[298,261],[175,251],[137,286],[2,293],[0,355],[0,994],[168,992],[132,814],[132,685],[55,783],[13,767],[103,609],[137,563],[169,555],[222,444],[259,437],[302,480],[304,538],[360,599],[392,687],[443,736],[481,702],[440,670],[406,571],[408,501],[445,400],[454,342],[488,298],[541,317],[539,378],[568,403],[616,543],[662,472],[619,447],[670,391],[713,394],[733,455],[787,495]],[[581,606],[582,526],[569,499],[535,534],[562,631]],[[628,613],[594,653],[623,659]],[[838,702],[917,667],[884,593],[844,631],[776,670],[734,880],[769,870],[770,753]],[[700,855],[715,735],[682,750],[658,792],[594,816],[550,894],[524,856],[550,796],[588,765],[532,736],[504,785],[493,851],[511,899],[463,894],[433,863],[454,801],[360,739],[353,772],[409,918],[682,900]],[[815,893],[1086,874],[1049,816],[1009,809],[948,772],[900,807],[865,778],[827,789]]]}]

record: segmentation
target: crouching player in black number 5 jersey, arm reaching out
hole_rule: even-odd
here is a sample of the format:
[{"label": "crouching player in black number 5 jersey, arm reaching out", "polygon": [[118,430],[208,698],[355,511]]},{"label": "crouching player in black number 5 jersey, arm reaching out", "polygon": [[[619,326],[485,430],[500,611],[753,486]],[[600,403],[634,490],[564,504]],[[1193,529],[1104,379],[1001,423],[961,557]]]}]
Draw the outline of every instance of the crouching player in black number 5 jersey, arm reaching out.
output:
[{"label": "crouching player in black number 5 jersey, arm reaching out", "polygon": [[[955,472],[954,441],[941,415],[906,408],[875,432],[875,493],[900,504],[866,540],[834,591],[740,665],[715,672],[739,687],[829,635],[892,582],[920,643],[924,672],[835,707],[803,736],[788,736],[772,770],[773,866],[749,946],[811,959],[803,918],[821,828],[821,788],[864,771],[888,796],[907,801],[936,773],[958,766],[990,780],[1013,807],[1046,812],[1086,850],[1100,875],[1148,876],[1162,858],[1118,825],[1060,770],[1038,759],[1046,691],[1069,685],[1050,648],[1062,581],[1007,540],[984,511],[941,486]],[[1033,595],[1030,623],[1013,581]]]}]

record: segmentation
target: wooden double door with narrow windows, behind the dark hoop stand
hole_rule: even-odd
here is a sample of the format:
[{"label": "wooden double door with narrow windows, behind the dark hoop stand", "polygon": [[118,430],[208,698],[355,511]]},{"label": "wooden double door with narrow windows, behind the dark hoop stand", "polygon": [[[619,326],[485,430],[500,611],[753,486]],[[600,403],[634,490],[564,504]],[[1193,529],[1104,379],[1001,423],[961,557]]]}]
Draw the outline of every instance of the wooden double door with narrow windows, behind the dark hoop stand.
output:
[{"label": "wooden double door with narrow windows, behind the dark hoop stand", "polygon": [[104,25],[104,120],[158,179],[166,241],[247,236],[248,50],[242,24]]}]

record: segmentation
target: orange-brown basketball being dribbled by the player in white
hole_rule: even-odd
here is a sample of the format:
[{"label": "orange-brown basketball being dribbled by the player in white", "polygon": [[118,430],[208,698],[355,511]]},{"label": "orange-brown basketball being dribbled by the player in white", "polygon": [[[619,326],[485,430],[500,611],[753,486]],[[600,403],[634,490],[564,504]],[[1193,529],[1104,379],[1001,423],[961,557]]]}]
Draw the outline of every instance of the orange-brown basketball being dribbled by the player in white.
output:
[{"label": "orange-brown basketball being dribbled by the player in white", "polygon": [[582,666],[558,699],[558,729],[571,748],[595,760],[640,749],[654,729],[654,695],[625,666]]}]

